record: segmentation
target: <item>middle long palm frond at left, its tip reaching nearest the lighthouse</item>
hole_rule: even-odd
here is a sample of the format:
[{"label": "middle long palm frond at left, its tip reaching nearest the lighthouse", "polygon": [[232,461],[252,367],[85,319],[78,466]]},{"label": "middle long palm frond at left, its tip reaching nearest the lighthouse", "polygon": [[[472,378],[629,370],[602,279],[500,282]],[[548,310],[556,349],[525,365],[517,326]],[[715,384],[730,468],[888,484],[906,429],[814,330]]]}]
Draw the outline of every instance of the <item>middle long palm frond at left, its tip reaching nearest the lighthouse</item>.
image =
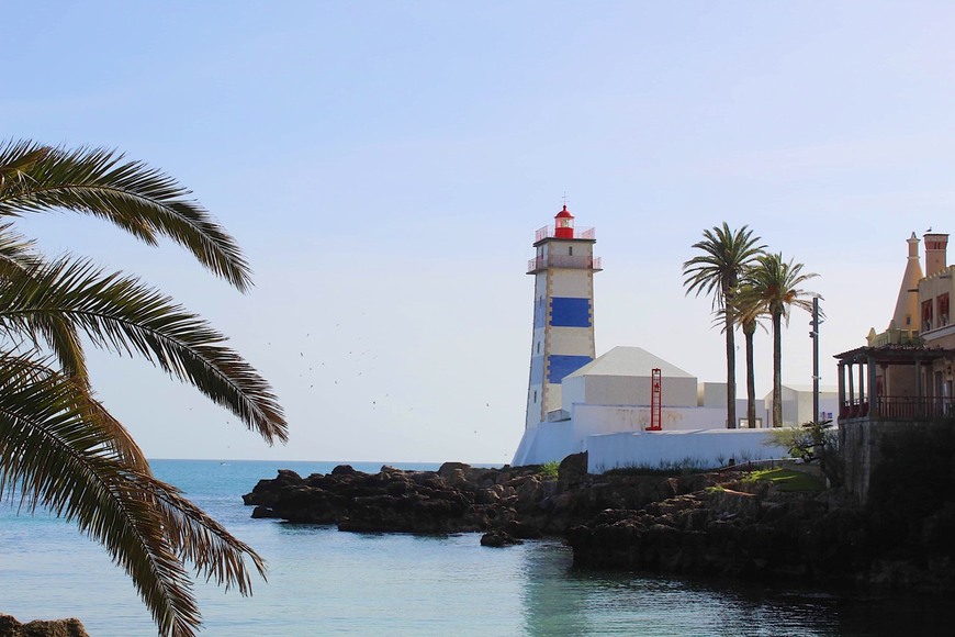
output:
[{"label": "middle long palm frond at left, its tip reaching nearest the lighthouse", "polygon": [[194,385],[269,444],[288,439],[282,409],[268,382],[223,345],[225,336],[138,279],[61,257],[34,268],[18,283],[0,286],[0,325],[30,331],[68,321],[94,345],[138,354]]}]

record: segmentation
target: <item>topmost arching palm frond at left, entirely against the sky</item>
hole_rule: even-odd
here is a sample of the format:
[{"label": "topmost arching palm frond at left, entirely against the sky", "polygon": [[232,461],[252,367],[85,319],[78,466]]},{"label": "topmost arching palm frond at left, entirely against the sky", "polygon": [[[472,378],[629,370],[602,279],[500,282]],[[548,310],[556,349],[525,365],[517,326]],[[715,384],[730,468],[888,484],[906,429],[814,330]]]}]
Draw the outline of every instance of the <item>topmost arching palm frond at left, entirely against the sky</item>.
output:
[{"label": "topmost arching palm frond at left, entirely against the sky", "polygon": [[61,209],[108,220],[149,245],[164,235],[247,290],[251,277],[241,250],[190,194],[160,170],[115,150],[31,142],[0,147],[0,215]]}]

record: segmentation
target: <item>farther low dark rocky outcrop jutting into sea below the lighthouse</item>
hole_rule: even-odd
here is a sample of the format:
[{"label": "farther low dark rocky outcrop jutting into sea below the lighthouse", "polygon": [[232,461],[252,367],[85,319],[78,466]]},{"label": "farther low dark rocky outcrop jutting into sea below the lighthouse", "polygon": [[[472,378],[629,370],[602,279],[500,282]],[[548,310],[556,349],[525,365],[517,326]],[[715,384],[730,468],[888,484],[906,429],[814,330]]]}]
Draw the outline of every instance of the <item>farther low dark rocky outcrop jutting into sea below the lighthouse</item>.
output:
[{"label": "farther low dark rocky outcrop jutting into sea below the lighthouse", "polygon": [[587,476],[571,457],[558,477],[540,467],[474,468],[446,462],[438,471],[382,467],[363,473],[336,467],[302,478],[281,470],[243,496],[252,517],[335,524],[341,530],[448,534],[504,532],[516,539],[562,536],[608,507],[632,509],[706,487],[703,477]]}]

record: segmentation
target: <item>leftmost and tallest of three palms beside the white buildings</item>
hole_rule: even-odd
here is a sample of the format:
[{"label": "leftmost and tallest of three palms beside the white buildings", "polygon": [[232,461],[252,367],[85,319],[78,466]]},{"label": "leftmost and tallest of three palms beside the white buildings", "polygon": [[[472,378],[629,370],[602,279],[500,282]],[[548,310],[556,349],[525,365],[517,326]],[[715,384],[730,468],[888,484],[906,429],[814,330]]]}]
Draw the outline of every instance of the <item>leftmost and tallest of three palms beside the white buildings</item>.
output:
[{"label": "leftmost and tallest of three palms beside the white buildings", "polygon": [[715,226],[703,233],[704,241],[693,244],[703,252],[683,264],[686,293],[698,297],[706,293],[712,297],[715,312],[722,312],[723,331],[727,337],[727,427],[737,426],[737,348],[733,337],[735,325],[734,294],[743,271],[763,252],[764,245],[756,245],[760,237],[743,226],[730,230],[729,224]]}]

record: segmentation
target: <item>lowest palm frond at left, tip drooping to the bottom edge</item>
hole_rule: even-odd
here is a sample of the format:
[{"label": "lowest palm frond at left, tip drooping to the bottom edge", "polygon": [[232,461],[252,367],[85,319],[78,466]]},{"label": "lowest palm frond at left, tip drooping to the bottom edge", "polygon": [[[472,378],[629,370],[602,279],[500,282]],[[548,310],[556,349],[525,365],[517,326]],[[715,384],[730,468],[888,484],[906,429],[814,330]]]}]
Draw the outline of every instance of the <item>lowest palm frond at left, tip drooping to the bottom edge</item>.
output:
[{"label": "lowest palm frond at left, tip drooping to the bottom edge", "polygon": [[[0,468],[33,506],[75,521],[131,575],[164,634],[189,634],[199,612],[191,582],[162,533],[161,518],[110,458],[105,436],[70,409],[72,385],[0,367]],[[57,467],[57,471],[50,471]],[[178,621],[177,621],[178,619]],[[181,628],[186,628],[182,630]]]}]

